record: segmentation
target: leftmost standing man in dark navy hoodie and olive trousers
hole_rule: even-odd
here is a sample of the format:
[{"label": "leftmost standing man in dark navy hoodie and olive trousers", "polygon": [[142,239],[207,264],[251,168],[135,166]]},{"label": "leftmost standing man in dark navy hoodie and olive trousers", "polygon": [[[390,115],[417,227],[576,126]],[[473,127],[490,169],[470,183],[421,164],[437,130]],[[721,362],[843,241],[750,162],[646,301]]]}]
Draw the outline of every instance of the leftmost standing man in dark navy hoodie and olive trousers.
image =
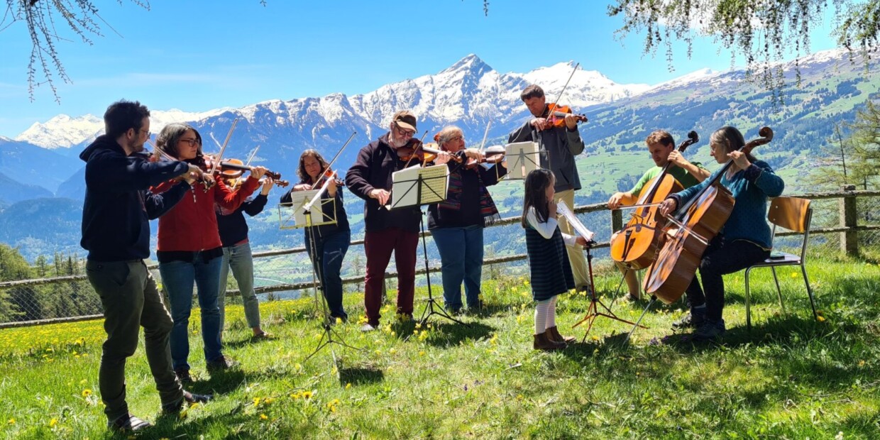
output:
[{"label": "leftmost standing man in dark navy hoodie and olive trousers", "polygon": [[[150,427],[128,413],[125,362],[137,348],[143,326],[147,362],[165,413],[180,412],[183,402],[210,396],[185,392],[172,370],[168,337],[172,319],[143,259],[150,256],[150,219],[171,209],[201,174],[184,162],[149,162],[136,155],[150,138],[150,111],[125,100],[107,107],[106,134],[83,150],[85,165],[83,238],[85,264],[92,287],[104,308],[107,340],[101,353],[99,387],[107,427],[136,431]],[[163,194],[148,188],[165,180],[180,184]]]}]

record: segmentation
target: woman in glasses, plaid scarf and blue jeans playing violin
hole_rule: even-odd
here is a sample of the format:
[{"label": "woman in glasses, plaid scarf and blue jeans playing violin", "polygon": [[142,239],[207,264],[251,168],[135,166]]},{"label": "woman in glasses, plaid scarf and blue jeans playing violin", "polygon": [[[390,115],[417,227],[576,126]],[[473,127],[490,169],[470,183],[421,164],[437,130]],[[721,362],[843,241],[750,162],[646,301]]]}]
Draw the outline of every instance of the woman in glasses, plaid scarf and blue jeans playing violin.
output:
[{"label": "woman in glasses, plaid scarf and blue jeans playing violin", "polygon": [[[449,312],[461,310],[464,281],[467,308],[473,312],[480,308],[483,227],[500,218],[486,187],[495,185],[507,174],[507,164],[501,162],[488,169],[479,165],[480,152],[465,149],[465,136],[458,127],[444,128],[434,140],[442,150],[458,155],[461,160],[448,162],[446,200],[428,208],[428,228],[443,261],[444,303]],[[448,160],[437,158],[436,163]]]}]

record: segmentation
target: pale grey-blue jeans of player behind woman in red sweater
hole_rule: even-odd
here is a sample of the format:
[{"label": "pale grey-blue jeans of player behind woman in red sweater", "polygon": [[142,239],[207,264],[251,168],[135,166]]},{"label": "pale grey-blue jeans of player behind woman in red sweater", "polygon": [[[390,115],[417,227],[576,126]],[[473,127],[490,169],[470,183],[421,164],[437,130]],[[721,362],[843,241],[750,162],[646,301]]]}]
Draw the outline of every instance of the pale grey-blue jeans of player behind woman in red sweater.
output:
[{"label": "pale grey-blue jeans of player behind woman in red sweater", "polygon": [[217,296],[217,307],[220,308],[220,330],[224,328],[226,316],[226,282],[229,279],[230,268],[232,268],[232,276],[238,282],[238,291],[241,292],[241,299],[245,304],[247,326],[259,327],[260,301],[253,291],[253,253],[250,243],[242,243],[223,248],[223,262],[220,263],[220,294]]}]

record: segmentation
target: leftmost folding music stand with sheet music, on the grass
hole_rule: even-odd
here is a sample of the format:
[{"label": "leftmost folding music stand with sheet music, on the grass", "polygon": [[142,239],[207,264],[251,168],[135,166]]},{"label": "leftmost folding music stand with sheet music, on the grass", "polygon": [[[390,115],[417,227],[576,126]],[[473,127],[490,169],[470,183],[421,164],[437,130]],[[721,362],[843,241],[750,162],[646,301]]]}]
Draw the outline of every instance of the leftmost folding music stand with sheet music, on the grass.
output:
[{"label": "leftmost folding music stand with sheet music, on the grass", "polygon": [[[312,203],[312,205],[309,206],[309,203],[312,202],[312,200],[314,200],[318,196],[319,192],[320,192],[320,190],[318,190],[318,189],[291,192],[290,193],[291,202],[289,204],[284,204],[284,206],[293,207],[292,215],[288,216],[288,220],[292,219],[293,223],[292,224],[290,224],[290,223],[285,224],[284,223],[285,219],[284,219],[284,216],[282,215],[282,205],[279,205],[278,206],[278,214],[279,214],[279,217],[282,221],[281,229],[310,228],[312,226],[319,226],[321,224],[336,224],[335,199],[324,200],[322,198],[318,198],[319,202]],[[326,205],[329,205],[333,208],[329,214],[324,212],[324,206],[326,206]],[[309,209],[305,209],[306,207],[308,207]],[[320,221],[317,223],[313,223],[312,216],[319,216]],[[315,243],[314,231],[310,231],[310,233],[307,233],[306,235],[308,235],[309,239],[311,240],[310,248],[311,248],[312,252],[311,252],[311,255],[309,255],[309,258],[312,260],[312,291],[315,295],[315,303],[316,303],[315,306],[316,306],[316,308],[318,308],[320,311],[323,312],[324,316],[323,316],[323,319],[321,319],[321,327],[322,327],[323,333],[321,334],[321,338],[318,341],[318,345],[315,347],[314,351],[312,351],[312,354],[310,354],[309,356],[305,356],[305,359],[303,360],[303,362],[306,362],[309,359],[311,359],[312,356],[317,355],[318,352],[322,348],[325,348],[325,347],[329,346],[330,344],[334,344],[334,343],[339,344],[342,347],[352,348],[352,349],[361,351],[362,348],[356,348],[356,347],[352,347],[352,346],[348,345],[345,341],[342,340],[341,336],[338,333],[336,334],[337,339],[334,339],[334,333],[336,333],[336,331],[334,330],[334,328],[330,322],[330,309],[327,306],[326,297],[324,297],[324,284],[323,284],[323,282],[321,282],[321,294],[320,295],[318,294],[319,280],[321,280],[322,278],[321,278],[321,273],[320,273],[321,269],[319,268],[319,265],[317,264],[317,261],[318,261],[317,247],[318,246],[316,246],[316,243]],[[333,363],[334,363],[334,367],[336,368],[336,375],[338,377],[340,374],[339,371],[341,369],[339,368],[339,362],[336,359],[336,352],[334,352],[334,349],[332,347],[330,348],[330,356],[333,357]]]}]

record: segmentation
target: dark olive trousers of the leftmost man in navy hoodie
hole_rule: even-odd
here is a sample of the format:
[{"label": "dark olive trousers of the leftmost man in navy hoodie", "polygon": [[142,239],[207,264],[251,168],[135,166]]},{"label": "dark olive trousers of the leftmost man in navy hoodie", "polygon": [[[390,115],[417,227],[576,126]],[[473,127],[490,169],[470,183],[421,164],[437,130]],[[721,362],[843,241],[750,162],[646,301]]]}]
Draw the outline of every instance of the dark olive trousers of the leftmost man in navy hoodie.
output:
[{"label": "dark olive trousers of the leftmost man in navy hoodie", "polygon": [[99,388],[107,419],[128,414],[125,362],[135,354],[143,326],[143,347],[163,405],[183,399],[183,388],[171,365],[168,337],[172,320],[156,282],[143,261],[87,261],[86,275],[101,298],[107,340],[101,350]]}]

